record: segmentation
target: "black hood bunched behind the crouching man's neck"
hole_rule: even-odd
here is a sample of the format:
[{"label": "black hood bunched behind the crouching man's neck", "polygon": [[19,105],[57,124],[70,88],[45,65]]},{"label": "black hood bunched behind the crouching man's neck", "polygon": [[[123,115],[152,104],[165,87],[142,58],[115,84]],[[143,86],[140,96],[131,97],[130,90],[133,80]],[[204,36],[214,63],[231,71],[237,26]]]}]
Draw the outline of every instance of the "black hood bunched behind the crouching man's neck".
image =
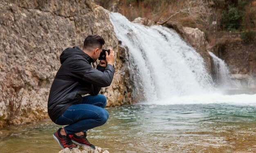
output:
[{"label": "black hood bunched behind the crouching man's neck", "polygon": [[67,58],[73,56],[73,55],[80,55],[82,57],[84,57],[86,60],[88,60],[89,64],[91,64],[92,62],[94,62],[94,60],[87,55],[85,52],[83,52],[79,47],[74,46],[73,48],[69,47],[67,49],[65,49],[60,56],[60,61],[61,64],[67,60]]}]

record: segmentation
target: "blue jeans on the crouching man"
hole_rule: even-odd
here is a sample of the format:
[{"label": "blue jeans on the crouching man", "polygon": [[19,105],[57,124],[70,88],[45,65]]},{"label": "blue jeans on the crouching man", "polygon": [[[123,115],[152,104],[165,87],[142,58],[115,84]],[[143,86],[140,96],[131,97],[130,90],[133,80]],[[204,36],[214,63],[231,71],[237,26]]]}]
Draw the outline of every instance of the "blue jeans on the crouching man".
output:
[{"label": "blue jeans on the crouching man", "polygon": [[86,132],[88,129],[107,122],[108,111],[104,109],[106,104],[105,95],[84,96],[82,104],[75,104],[67,108],[57,119],[56,124],[68,125],[64,127],[67,134]]}]

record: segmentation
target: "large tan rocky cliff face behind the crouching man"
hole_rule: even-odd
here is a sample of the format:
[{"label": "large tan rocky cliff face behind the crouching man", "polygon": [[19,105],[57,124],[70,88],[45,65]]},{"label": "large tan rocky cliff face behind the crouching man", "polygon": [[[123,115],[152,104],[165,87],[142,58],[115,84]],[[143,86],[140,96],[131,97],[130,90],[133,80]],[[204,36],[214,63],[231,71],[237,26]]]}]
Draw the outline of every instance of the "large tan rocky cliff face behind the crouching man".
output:
[{"label": "large tan rocky cliff face behind the crouching man", "polygon": [[[118,49],[108,12],[92,0],[5,0],[0,7],[0,82],[7,74],[14,80],[18,75],[17,86],[31,92],[39,89],[35,101],[43,108],[64,49],[82,47],[89,34],[101,35],[106,48]],[[115,53],[113,83],[102,91],[108,97],[108,106],[129,104],[131,100],[129,74],[122,69],[125,52],[119,49]]]}]

